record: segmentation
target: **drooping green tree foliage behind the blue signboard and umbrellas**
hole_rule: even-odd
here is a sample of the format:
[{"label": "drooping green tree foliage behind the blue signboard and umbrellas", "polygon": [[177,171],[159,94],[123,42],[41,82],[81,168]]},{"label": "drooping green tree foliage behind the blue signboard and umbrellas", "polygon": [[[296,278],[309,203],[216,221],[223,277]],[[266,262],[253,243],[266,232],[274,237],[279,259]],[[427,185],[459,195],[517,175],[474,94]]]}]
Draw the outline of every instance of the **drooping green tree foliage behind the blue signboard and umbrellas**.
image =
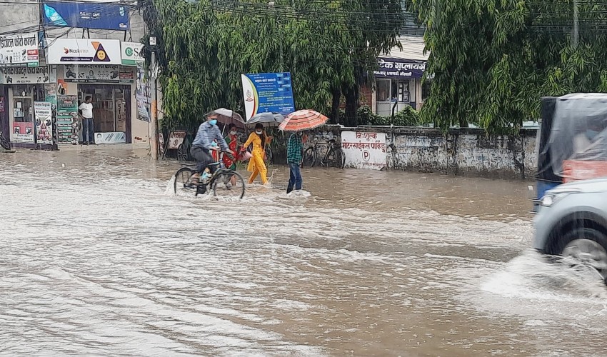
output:
[{"label": "drooping green tree foliage behind the blue signboard and umbrellas", "polygon": [[[218,107],[244,109],[241,74],[290,71],[297,109],[357,124],[358,92],[397,43],[399,0],[139,0],[158,39],[164,126],[192,127]],[[149,52],[147,54],[149,56]]]}]

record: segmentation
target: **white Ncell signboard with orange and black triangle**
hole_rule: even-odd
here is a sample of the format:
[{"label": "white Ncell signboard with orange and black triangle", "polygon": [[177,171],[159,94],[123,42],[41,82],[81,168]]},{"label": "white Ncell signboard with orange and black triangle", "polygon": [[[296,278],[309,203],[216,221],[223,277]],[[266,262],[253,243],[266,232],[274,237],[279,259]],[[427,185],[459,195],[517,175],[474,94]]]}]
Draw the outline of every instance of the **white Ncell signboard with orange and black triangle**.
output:
[{"label": "white Ncell signboard with orange and black triangle", "polygon": [[121,64],[119,40],[47,39],[48,64]]}]

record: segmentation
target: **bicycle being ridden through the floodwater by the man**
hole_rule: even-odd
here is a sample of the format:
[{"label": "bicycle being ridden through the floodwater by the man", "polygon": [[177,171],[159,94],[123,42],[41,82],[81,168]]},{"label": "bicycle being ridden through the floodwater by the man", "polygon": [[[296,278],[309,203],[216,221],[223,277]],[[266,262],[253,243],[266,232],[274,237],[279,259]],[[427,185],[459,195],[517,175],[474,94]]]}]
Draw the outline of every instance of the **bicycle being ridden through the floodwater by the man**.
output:
[{"label": "bicycle being ridden through the floodwater by the man", "polygon": [[204,194],[207,191],[207,186],[210,187],[209,193],[213,193],[213,196],[229,196],[234,198],[243,198],[245,185],[244,178],[240,176],[236,171],[226,169],[223,156],[219,156],[219,161],[209,164],[209,169],[215,167],[216,170],[211,177],[203,179],[200,178],[199,183],[191,181],[192,175],[196,172],[191,167],[182,167],[177,170],[174,175],[174,193],[179,191],[184,192],[195,192],[195,196]]}]

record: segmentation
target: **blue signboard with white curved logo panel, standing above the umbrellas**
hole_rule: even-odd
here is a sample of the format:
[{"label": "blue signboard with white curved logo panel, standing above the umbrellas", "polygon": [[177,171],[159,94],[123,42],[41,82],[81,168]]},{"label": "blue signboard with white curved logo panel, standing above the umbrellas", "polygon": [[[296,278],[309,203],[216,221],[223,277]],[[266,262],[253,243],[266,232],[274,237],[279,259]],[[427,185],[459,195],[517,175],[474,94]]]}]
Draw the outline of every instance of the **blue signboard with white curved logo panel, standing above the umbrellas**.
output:
[{"label": "blue signboard with white curved logo panel, standing above the umbrellas", "polygon": [[258,113],[291,114],[295,111],[291,74],[243,74],[242,89],[246,120]]}]

